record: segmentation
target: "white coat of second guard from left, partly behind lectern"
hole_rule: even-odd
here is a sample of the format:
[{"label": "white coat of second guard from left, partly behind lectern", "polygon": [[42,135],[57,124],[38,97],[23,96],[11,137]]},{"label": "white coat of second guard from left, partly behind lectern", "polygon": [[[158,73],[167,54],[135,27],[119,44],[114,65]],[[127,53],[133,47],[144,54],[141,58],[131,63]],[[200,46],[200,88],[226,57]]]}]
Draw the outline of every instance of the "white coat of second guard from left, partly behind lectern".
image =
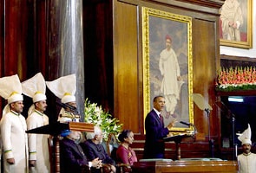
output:
[{"label": "white coat of second guard from left, partly behind lectern", "polygon": [[[38,111],[32,112],[26,121],[28,130],[49,124],[49,118]],[[30,172],[50,172],[48,138],[49,135],[29,133],[29,159],[36,160],[36,166]]]}]

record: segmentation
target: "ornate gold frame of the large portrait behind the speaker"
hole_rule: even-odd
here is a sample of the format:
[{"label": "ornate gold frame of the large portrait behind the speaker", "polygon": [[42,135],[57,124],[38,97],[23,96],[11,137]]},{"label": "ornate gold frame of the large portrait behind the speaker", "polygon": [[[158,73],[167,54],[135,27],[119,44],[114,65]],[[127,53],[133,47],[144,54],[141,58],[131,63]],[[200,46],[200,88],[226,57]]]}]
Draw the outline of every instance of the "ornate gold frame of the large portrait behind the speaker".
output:
[{"label": "ornate gold frame of the large portrait behind the speaker", "polygon": [[[160,19],[167,19],[174,22],[182,22],[187,25],[187,99],[188,99],[188,115],[189,123],[194,124],[194,102],[191,97],[193,93],[193,54],[192,54],[192,18],[189,16],[181,16],[173,13],[154,10],[150,8],[142,8],[142,56],[143,56],[143,101],[144,101],[144,121],[154,98],[150,98],[150,59],[149,59],[149,17],[155,16]],[[171,30],[171,29],[170,29]],[[178,124],[178,123],[177,123]],[[174,134],[191,133],[194,127],[174,127]]]}]

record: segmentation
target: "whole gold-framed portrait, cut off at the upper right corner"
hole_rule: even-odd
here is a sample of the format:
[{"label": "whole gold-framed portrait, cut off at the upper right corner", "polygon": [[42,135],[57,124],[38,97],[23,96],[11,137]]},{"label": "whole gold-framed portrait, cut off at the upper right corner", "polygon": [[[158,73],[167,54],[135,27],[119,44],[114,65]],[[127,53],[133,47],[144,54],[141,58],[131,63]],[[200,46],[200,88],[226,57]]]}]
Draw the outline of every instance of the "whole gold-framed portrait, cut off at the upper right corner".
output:
[{"label": "whole gold-framed portrait, cut off at the upper right corner", "polygon": [[[220,45],[253,48],[252,0],[234,0],[231,4],[229,1],[226,0],[220,8]],[[237,17],[234,18],[233,13]]]}]

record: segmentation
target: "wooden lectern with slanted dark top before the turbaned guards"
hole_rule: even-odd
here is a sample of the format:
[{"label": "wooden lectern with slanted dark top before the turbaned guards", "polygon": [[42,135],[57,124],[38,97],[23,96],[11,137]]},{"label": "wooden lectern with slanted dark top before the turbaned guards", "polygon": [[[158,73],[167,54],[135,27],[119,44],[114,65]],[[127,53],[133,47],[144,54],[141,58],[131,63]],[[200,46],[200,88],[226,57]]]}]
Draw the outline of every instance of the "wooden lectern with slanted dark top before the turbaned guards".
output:
[{"label": "wooden lectern with slanted dark top before the turbaned guards", "polygon": [[69,123],[56,123],[43,125],[41,127],[31,129],[26,131],[27,133],[36,133],[36,134],[49,134],[53,137],[54,144],[54,163],[55,163],[55,172],[59,173],[60,169],[60,141],[58,136],[62,131],[71,130],[71,131],[95,131],[94,125],[84,122],[69,122]]}]

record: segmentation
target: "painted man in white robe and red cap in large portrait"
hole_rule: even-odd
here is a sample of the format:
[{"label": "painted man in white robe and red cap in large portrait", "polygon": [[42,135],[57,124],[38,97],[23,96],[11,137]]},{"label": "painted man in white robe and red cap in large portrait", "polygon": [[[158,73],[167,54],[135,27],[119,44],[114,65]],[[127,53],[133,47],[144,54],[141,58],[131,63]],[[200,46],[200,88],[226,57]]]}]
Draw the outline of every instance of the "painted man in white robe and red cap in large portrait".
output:
[{"label": "painted man in white robe and red cap in large portrait", "polygon": [[181,80],[181,72],[177,56],[172,48],[172,39],[169,35],[166,36],[166,48],[160,54],[159,69],[163,76],[161,93],[166,100],[167,116],[173,115],[178,99],[180,99],[178,81]]}]

